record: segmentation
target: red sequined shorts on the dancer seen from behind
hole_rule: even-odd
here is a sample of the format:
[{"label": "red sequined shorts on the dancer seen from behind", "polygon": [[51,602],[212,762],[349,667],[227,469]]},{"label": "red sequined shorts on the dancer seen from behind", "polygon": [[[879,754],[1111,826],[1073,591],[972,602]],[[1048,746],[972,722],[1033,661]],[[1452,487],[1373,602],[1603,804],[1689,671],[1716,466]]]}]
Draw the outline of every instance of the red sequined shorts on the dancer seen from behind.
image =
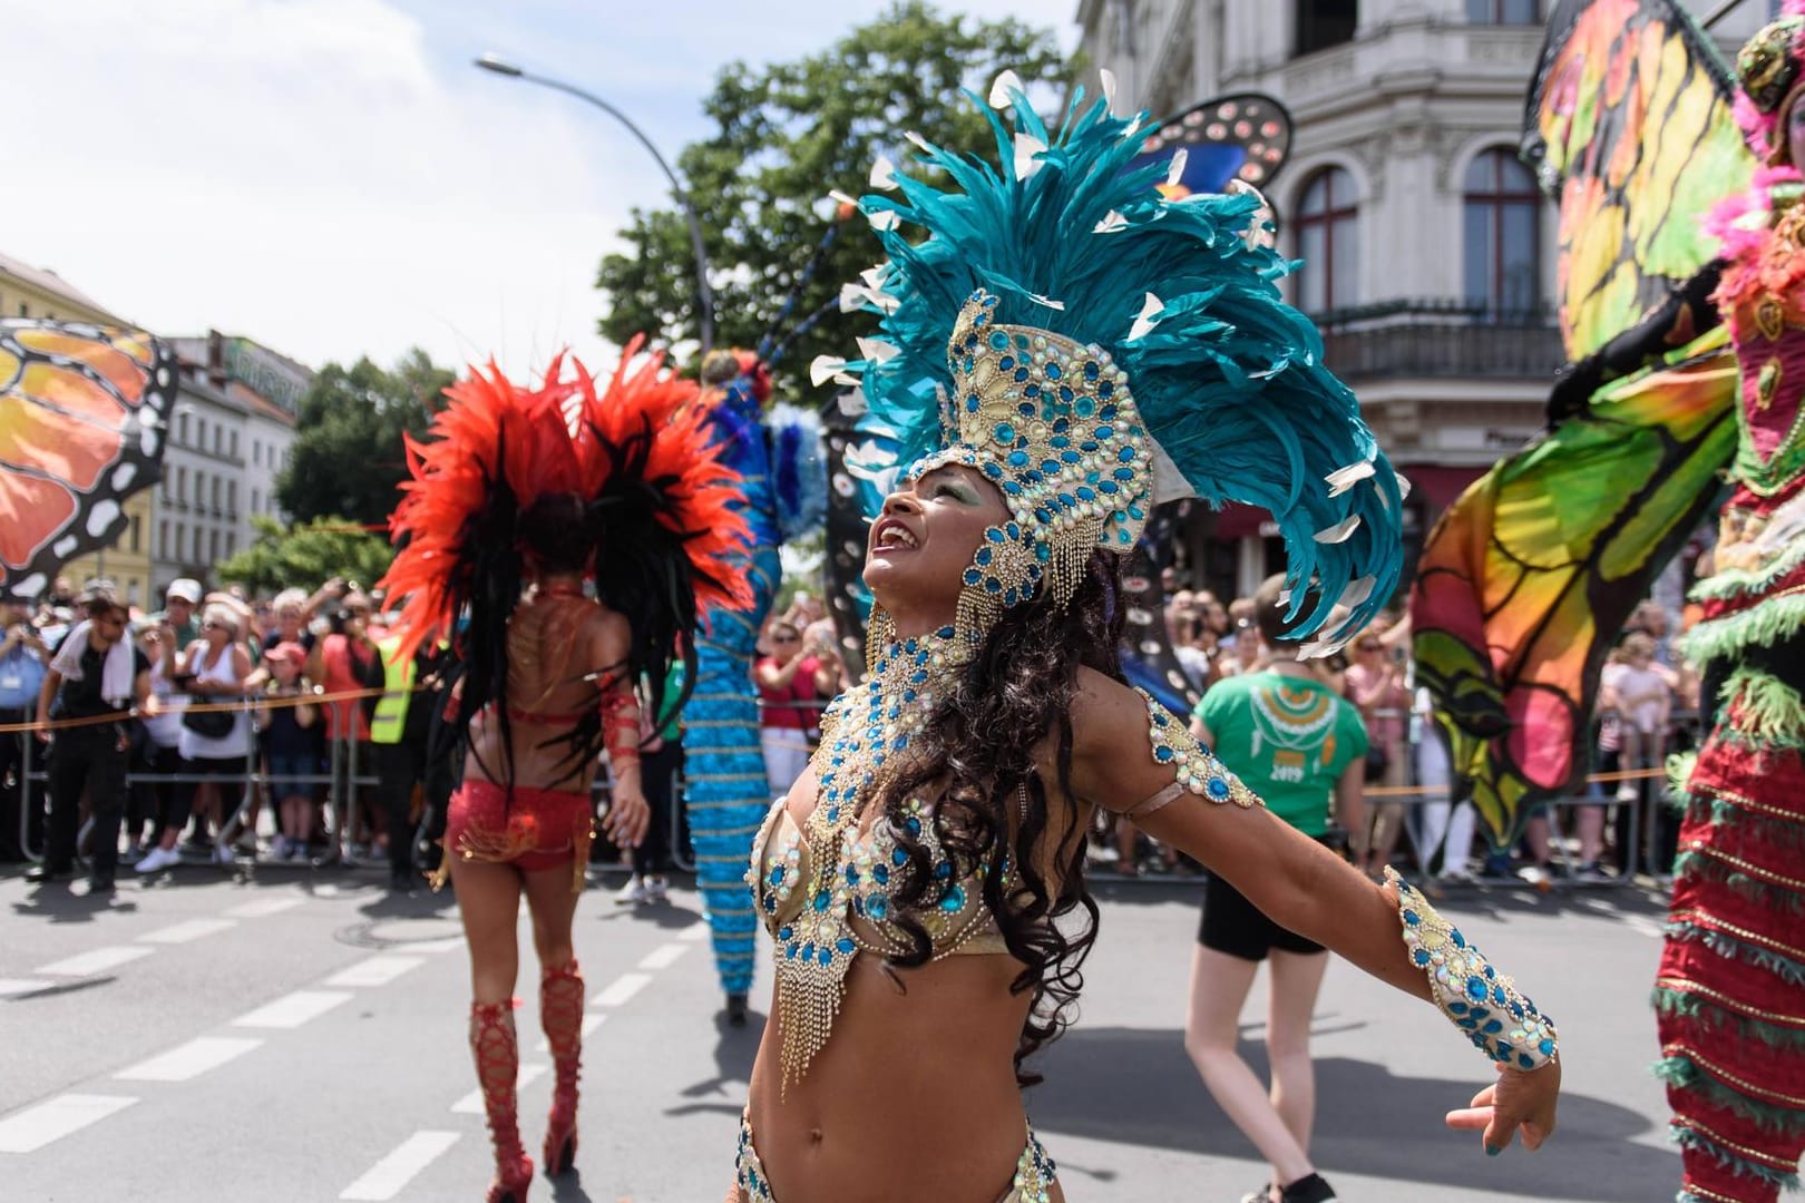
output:
[{"label": "red sequined shorts on the dancer seen from behind", "polygon": [[574,859],[572,889],[583,889],[588,842],[594,837],[588,794],[466,781],[446,815],[446,864],[487,860],[523,873],[556,869]]}]

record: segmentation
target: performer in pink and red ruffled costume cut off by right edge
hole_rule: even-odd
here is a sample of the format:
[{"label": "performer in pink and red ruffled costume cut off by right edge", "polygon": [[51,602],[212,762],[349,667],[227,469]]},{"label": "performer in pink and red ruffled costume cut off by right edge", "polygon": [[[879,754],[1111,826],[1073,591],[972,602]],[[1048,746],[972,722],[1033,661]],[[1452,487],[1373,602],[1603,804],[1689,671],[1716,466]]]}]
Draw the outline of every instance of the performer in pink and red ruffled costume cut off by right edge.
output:
[{"label": "performer in pink and red ruffled costume cut off by right edge", "polygon": [[1736,121],[1765,164],[1713,218],[1713,298],[1742,372],[1735,491],[1682,640],[1709,736],[1679,779],[1655,978],[1682,1203],[1771,1203],[1805,1149],[1805,2],[1736,60]]}]

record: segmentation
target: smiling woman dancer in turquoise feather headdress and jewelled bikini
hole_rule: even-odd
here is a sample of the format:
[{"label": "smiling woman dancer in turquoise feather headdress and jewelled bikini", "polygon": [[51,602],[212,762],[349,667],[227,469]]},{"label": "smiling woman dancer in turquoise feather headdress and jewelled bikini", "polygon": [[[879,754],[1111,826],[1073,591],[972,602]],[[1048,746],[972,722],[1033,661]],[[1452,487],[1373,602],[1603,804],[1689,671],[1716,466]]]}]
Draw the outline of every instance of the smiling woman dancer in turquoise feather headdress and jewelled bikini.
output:
[{"label": "smiling woman dancer in turquoise feather headdress and jewelled bikini", "polygon": [[902,189],[865,200],[890,262],[850,292],[886,339],[818,364],[861,373],[924,455],[870,532],[866,680],[754,846],[776,1003],[733,1198],[1061,1198],[1018,1075],[1078,994],[1096,806],[1437,999],[1500,1066],[1449,1122],[1540,1145],[1560,1086],[1540,1012],[1421,895],[1269,815],[1114,664],[1117,557],[1180,489],[1273,512],[1305,631],[1345,601],[1347,638],[1395,581],[1395,480],[1278,299],[1256,200],[1162,200],[1103,103],[1052,133],[1013,78],[993,101],[1014,114],[1000,173],[931,148],[957,191],[874,173]]}]

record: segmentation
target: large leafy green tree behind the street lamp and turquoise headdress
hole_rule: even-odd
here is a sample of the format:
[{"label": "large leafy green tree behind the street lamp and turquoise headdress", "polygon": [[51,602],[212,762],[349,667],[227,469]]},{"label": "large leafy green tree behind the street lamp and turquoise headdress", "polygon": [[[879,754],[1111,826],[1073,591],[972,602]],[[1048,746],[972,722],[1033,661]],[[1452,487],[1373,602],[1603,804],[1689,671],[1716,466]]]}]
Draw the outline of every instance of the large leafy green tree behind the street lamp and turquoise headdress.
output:
[{"label": "large leafy green tree behind the street lamp and turquoise headdress", "polygon": [[[921,0],[895,4],[809,58],[722,69],[704,105],[718,130],[677,161],[713,267],[715,344],[756,346],[771,328],[834,220],[834,206],[823,204],[830,189],[872,191],[879,157],[921,170],[908,166],[906,133],[995,157],[984,114],[960,88],[982,97],[1004,69],[1031,92],[1036,85],[1063,92],[1076,74],[1052,31],[942,16]],[[682,213],[635,209],[621,236],[628,251],[603,258],[596,281],[608,298],[601,332],[616,343],[643,330],[695,339],[695,256]],[[875,234],[852,215],[789,323],[838,298],[841,283],[879,258]],[[868,314],[834,308],[796,339],[780,368],[794,382],[818,354],[852,355],[854,335],[872,332]]]}]

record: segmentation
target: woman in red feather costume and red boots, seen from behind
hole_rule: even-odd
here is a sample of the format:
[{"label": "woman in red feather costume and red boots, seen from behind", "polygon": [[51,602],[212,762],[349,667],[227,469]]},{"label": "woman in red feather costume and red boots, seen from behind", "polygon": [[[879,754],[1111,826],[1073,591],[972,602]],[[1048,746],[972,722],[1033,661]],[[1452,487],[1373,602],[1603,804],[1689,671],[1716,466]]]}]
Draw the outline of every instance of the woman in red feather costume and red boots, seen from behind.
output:
[{"label": "woman in red feather costume and red boots, seen from behind", "polygon": [[[439,880],[449,873],[471,956],[469,1042],[496,1174],[489,1203],[522,1203],[532,1160],[520,1143],[513,994],[520,896],[540,958],[540,1023],[556,1070],[545,1169],[576,1158],[583,974],[570,920],[592,837],[590,781],[608,752],[608,835],[646,828],[639,702],[662,684],[697,606],[742,602],[724,557],[744,536],[726,510],[733,476],[704,447],[695,388],[652,357],[605,391],[552,361],[538,390],[487,375],[448,390],[431,442],[410,440],[413,480],[392,527],[403,550],[383,581],[406,597],[403,642],[455,633],[464,675],[453,729],[466,738]],[[594,581],[597,599],[585,593]],[[467,611],[467,624],[458,617]],[[691,675],[693,678],[693,675]]]}]

